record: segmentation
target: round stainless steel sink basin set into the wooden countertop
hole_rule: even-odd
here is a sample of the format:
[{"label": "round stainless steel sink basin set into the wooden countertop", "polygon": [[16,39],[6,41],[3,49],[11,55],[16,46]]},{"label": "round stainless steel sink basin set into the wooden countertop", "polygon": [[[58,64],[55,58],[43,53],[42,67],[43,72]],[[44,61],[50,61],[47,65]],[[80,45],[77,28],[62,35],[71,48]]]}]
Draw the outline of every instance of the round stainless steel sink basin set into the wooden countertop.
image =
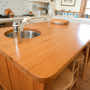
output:
[{"label": "round stainless steel sink basin set into the wooden countertop", "polygon": [[36,32],[36,31],[33,31],[33,30],[24,30],[21,33],[13,32],[13,30],[9,30],[9,31],[5,32],[5,36],[8,37],[8,38],[18,37],[18,34],[23,39],[29,39],[29,38],[34,38],[34,37],[40,36],[39,32]]}]

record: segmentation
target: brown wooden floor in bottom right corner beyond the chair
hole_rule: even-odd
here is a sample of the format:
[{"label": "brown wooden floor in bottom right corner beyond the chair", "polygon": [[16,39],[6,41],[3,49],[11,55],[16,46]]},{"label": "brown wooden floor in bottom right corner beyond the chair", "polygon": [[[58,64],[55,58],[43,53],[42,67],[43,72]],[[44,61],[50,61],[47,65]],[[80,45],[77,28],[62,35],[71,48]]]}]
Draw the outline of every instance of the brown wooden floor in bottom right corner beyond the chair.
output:
[{"label": "brown wooden floor in bottom right corner beyond the chair", "polygon": [[80,81],[80,88],[74,87],[72,90],[90,90],[90,63],[88,65],[85,80]]}]

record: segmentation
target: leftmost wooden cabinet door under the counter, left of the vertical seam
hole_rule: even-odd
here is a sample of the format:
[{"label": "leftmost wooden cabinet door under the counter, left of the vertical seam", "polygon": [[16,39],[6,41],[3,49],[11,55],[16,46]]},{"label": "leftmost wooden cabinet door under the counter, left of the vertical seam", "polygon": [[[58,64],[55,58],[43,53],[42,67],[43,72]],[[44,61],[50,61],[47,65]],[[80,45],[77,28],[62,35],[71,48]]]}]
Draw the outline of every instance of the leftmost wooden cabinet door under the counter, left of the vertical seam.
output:
[{"label": "leftmost wooden cabinet door under the counter, left of the vertical seam", "polygon": [[0,83],[2,88],[6,87],[7,90],[11,90],[6,58],[2,55],[0,55]]}]

